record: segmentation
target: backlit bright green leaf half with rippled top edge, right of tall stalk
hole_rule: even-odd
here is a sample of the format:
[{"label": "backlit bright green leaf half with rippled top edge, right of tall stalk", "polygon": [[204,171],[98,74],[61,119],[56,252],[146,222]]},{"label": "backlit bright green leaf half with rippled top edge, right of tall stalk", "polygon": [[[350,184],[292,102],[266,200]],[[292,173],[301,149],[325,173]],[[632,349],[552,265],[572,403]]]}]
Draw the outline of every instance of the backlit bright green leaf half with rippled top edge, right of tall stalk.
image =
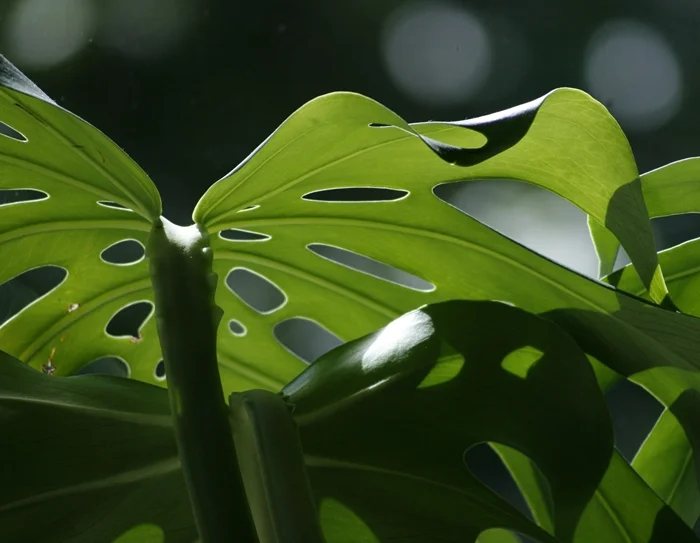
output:
[{"label": "backlit bright green leaf half with rippled top edge, right of tall stalk", "polygon": [[[228,386],[278,387],[303,368],[270,341],[271,328],[287,318],[312,319],[352,339],[428,302],[524,296],[541,300],[535,308],[544,308],[569,298],[566,272],[460,215],[432,192],[441,182],[479,177],[522,179],[568,198],[623,239],[653,296],[663,298],[629,146],[617,123],[586,94],[560,89],[500,114],[417,125],[362,96],[331,94],[293,114],[195,210],[195,221],[212,234],[221,280],[217,303],[227,320],[247,329],[245,337],[221,331]],[[409,194],[390,202],[308,199],[343,187]],[[217,235],[228,229],[262,239]],[[358,273],[315,254],[310,244],[384,262],[435,290]],[[232,295],[223,282],[238,267],[276,284],[286,304],[260,314]],[[573,296],[587,297],[580,291]]]}]

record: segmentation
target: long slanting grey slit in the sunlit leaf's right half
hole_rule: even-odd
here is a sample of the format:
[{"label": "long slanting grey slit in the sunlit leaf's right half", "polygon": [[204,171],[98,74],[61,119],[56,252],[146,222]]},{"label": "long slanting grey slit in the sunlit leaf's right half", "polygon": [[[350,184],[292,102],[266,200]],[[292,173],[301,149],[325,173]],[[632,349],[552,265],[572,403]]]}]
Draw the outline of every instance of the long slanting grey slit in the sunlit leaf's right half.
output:
[{"label": "long slanting grey slit in the sunlit leaf's right half", "polygon": [[311,243],[306,248],[321,258],[395,285],[420,292],[435,290],[435,285],[425,279],[348,249],[324,243]]}]

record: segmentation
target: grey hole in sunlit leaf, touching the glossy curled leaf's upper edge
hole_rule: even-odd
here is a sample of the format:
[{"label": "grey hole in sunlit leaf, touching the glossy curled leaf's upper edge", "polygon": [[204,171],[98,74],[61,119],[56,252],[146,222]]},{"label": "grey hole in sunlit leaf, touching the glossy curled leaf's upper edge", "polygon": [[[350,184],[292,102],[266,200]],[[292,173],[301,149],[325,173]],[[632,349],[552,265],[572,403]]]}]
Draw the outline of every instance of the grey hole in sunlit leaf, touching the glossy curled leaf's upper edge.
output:
[{"label": "grey hole in sunlit leaf, touching the glossy curled leaf's upper edge", "polygon": [[305,317],[277,323],[273,334],[280,345],[307,364],[343,344],[333,332]]}]

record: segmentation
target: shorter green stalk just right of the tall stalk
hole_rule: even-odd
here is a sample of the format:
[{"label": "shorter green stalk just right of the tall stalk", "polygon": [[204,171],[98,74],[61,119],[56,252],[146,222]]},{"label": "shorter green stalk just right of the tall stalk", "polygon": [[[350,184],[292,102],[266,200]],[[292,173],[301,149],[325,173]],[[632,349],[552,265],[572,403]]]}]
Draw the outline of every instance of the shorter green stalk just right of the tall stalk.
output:
[{"label": "shorter green stalk just right of the tall stalk", "polygon": [[231,430],[261,543],[323,543],[297,425],[279,394],[231,395]]}]

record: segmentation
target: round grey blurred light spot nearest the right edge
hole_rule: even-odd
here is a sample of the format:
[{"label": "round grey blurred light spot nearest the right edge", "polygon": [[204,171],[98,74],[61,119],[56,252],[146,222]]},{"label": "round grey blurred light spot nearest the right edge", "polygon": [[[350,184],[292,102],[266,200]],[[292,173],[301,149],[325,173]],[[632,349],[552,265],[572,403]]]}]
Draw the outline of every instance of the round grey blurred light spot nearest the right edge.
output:
[{"label": "round grey blurred light spot nearest the right edge", "polygon": [[670,44],[633,20],[609,21],[588,45],[587,89],[625,129],[650,131],[679,111],[683,74]]}]

